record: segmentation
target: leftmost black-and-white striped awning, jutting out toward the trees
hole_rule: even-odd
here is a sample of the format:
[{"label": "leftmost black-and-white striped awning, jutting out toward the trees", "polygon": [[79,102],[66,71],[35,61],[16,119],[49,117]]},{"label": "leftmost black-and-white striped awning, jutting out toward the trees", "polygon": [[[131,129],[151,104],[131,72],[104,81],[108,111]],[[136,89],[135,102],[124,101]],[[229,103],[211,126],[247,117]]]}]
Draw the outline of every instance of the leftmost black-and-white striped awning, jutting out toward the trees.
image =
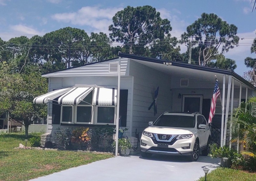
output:
[{"label": "leftmost black-and-white striped awning, jutting out toward the trees", "polygon": [[34,104],[46,104],[49,101],[55,99],[56,97],[59,97],[59,96],[65,94],[70,89],[72,89],[72,87],[64,88],[64,89],[58,89],[56,91],[48,92],[44,95],[41,95],[41,96],[38,96],[38,97],[34,98],[33,103]]}]

